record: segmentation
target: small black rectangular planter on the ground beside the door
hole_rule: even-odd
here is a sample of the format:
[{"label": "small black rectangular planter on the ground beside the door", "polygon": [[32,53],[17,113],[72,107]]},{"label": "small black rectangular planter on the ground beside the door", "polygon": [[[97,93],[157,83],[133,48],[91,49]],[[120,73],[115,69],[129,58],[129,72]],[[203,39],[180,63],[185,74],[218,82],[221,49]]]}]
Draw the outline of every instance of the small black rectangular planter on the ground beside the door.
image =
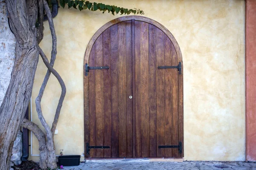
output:
[{"label": "small black rectangular planter on the ground beside the door", "polygon": [[80,164],[80,158],[80,155],[59,156],[58,164],[59,166],[78,166]]}]

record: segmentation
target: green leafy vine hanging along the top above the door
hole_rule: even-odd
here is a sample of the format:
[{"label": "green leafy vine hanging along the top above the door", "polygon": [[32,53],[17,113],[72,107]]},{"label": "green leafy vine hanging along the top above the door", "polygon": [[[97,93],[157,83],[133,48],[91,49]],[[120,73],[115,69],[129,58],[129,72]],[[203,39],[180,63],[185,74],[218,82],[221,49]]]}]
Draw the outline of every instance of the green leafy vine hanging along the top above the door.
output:
[{"label": "green leafy vine hanging along the top above the door", "polygon": [[65,8],[65,6],[67,5],[68,8],[79,8],[79,10],[83,10],[83,9],[89,9],[90,11],[103,11],[102,13],[104,13],[105,11],[108,11],[108,13],[112,13],[113,15],[118,14],[120,12],[120,14],[144,14],[144,11],[140,10],[140,9],[127,9],[127,8],[120,8],[117,6],[110,6],[110,5],[105,5],[103,3],[90,3],[89,1],[85,1],[85,0],[60,0],[60,5]]}]

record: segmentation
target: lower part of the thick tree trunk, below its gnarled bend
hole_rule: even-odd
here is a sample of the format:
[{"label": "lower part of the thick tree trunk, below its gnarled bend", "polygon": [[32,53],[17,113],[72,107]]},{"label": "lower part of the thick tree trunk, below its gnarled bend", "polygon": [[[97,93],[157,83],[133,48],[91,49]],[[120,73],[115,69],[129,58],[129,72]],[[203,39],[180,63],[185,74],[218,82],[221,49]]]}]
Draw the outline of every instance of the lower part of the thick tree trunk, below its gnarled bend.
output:
[{"label": "lower part of the thick tree trunk, below its gnarled bend", "polygon": [[16,51],[15,64],[0,108],[0,169],[8,170],[12,147],[32,93],[39,51],[34,47]]}]

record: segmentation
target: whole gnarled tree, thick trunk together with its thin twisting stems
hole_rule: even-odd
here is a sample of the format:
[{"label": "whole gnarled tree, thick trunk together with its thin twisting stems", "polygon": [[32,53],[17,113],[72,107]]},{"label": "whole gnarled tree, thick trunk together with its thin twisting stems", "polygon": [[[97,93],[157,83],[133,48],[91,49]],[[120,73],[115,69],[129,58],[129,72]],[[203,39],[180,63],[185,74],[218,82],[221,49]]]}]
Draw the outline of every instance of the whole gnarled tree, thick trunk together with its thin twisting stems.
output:
[{"label": "whole gnarled tree, thick trunk together with its thin twisting stems", "polygon": [[[0,107],[0,170],[9,169],[13,142],[21,123],[23,127],[31,130],[38,138],[40,167],[42,169],[47,167],[54,169],[57,168],[57,164],[53,135],[66,94],[66,87],[60,75],[52,68],[57,54],[57,41],[52,14],[46,0],[7,0],[7,10],[9,12],[10,27],[17,43],[11,81]],[[52,32],[52,56],[50,63],[38,46],[43,38],[44,10],[49,19],[49,26]],[[35,27],[36,21],[39,23],[38,27]],[[32,93],[39,53],[48,68],[36,99],[38,116],[46,130],[46,134],[33,122],[23,119]],[[51,72],[60,82],[62,90],[52,128],[47,125],[40,104]]]}]

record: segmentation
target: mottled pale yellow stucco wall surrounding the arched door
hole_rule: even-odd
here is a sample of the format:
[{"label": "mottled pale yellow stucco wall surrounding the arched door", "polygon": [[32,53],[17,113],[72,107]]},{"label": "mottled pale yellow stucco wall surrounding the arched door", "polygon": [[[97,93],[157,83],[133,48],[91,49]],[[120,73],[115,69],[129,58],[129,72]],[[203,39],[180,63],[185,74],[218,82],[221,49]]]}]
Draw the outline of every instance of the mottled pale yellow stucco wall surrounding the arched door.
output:
[{"label": "mottled pale yellow stucco wall surrounding the arched door", "polygon": [[[245,159],[244,1],[243,0],[99,0],[125,8],[140,8],[176,38],[184,65],[184,159],[238,161]],[[105,23],[120,15],[59,8],[55,69],[67,95],[55,135],[56,154],[84,152],[83,61],[87,43]],[[51,51],[48,23],[40,46]],[[39,123],[35,97],[47,69],[39,60],[32,92],[32,119]],[[42,99],[49,125],[61,93],[51,75]],[[42,127],[40,125],[40,127]],[[38,142],[32,138],[32,152]],[[38,160],[38,156],[30,156]]]}]

